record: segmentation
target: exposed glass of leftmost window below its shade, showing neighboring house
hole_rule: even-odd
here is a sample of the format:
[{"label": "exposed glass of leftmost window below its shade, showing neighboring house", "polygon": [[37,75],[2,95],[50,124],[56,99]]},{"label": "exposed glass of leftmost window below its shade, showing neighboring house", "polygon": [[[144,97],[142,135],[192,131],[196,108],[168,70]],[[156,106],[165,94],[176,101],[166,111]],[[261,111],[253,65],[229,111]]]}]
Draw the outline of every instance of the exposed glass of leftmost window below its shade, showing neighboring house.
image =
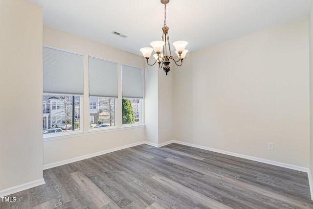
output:
[{"label": "exposed glass of leftmost window below its shade, showing neighboring house", "polygon": [[60,132],[47,131],[55,128],[62,131],[80,130],[80,96],[44,94],[43,99],[50,105],[44,114],[44,133]]}]

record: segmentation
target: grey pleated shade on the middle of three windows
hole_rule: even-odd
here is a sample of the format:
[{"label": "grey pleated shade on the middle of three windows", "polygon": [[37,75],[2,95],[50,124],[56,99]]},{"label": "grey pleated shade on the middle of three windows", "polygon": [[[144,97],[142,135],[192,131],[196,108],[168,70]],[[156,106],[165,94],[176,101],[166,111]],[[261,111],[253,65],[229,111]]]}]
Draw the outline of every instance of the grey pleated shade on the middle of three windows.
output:
[{"label": "grey pleated shade on the middle of three windows", "polygon": [[89,57],[89,96],[118,96],[117,63]]}]

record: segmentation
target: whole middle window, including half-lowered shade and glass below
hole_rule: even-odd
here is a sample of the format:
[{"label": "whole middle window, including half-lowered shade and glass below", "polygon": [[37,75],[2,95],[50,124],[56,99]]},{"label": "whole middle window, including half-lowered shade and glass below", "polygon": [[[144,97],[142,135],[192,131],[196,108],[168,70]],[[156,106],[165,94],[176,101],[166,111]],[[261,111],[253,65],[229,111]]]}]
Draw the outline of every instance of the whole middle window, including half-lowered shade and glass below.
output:
[{"label": "whole middle window, including half-lowered shade and glass below", "polygon": [[99,130],[116,125],[117,76],[117,63],[89,56],[90,129]]}]

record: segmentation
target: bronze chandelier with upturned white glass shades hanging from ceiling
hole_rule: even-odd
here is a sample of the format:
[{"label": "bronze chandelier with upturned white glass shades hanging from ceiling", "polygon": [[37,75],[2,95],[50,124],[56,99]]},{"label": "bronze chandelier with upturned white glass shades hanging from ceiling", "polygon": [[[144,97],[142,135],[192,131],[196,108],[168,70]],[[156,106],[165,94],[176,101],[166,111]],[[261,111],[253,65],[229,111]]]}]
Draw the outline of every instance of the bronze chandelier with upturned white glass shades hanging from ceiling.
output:
[{"label": "bronze chandelier with upturned white glass shades hanging from ceiling", "polygon": [[[188,52],[185,47],[187,46],[188,42],[186,41],[176,41],[173,43],[176,49],[176,54],[178,56],[178,60],[175,60],[175,58],[172,56],[171,52],[171,46],[170,46],[170,40],[168,37],[168,26],[166,25],[166,4],[170,2],[170,0],[161,0],[161,3],[164,4],[164,26],[162,27],[163,35],[162,35],[162,41],[154,41],[151,42],[151,47],[143,47],[140,48],[140,51],[142,52],[143,56],[147,60],[147,64],[150,66],[153,66],[158,63],[159,68],[162,68],[167,73],[171,70],[169,64],[170,59],[172,59],[177,66],[182,65],[182,60],[185,58],[186,53]],[[153,64],[149,64],[149,58],[151,56],[152,51],[155,51],[156,53],[153,55],[156,58],[156,61]],[[179,62],[180,61],[180,62]]]}]

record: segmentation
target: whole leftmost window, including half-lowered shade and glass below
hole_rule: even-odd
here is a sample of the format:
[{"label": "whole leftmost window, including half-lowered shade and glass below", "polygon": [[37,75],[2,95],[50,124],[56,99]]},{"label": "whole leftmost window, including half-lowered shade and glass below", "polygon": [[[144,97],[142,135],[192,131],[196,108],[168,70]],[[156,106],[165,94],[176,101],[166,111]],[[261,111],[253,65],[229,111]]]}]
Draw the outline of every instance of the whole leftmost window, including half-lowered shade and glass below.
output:
[{"label": "whole leftmost window, including half-lowered shade and glass below", "polygon": [[80,130],[83,70],[83,55],[43,47],[44,136]]}]

